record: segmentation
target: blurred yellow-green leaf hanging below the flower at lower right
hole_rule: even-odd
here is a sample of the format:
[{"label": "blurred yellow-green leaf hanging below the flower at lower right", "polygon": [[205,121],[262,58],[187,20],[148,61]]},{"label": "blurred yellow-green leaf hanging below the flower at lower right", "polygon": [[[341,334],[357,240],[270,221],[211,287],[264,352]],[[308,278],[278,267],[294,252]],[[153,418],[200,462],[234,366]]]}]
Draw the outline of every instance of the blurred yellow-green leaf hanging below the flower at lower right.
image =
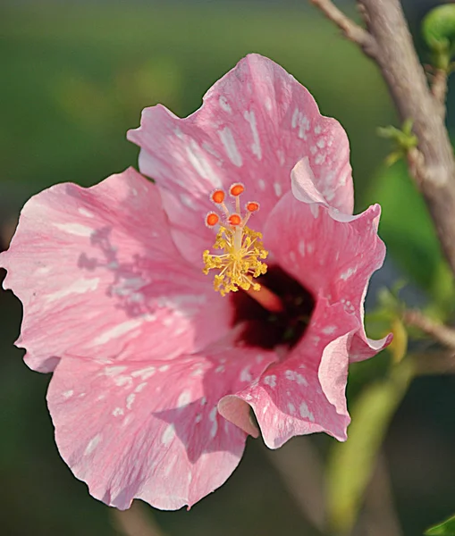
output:
[{"label": "blurred yellow-green leaf hanging below the flower at lower right", "polygon": [[385,381],[364,389],[354,403],[349,439],[334,445],[327,465],[327,515],[334,534],[349,533],[357,520],[377,454],[412,374],[412,365],[404,360]]}]

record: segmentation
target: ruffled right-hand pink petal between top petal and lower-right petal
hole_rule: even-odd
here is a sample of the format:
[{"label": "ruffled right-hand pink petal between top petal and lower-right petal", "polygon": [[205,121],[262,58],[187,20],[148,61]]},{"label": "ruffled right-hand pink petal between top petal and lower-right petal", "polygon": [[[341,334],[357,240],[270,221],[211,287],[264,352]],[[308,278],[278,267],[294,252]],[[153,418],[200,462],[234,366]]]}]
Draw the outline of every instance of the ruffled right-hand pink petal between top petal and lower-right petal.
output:
[{"label": "ruffled right-hand pink petal between top petal and lower-right petal", "polygon": [[374,356],[391,341],[367,339],[363,327],[369,279],[383,264],[385,246],[377,234],[381,208],[357,216],[316,203],[301,203],[292,193],[276,205],[265,225],[264,244],[283,270],[316,297],[341,303],[358,318],[351,361]]}]

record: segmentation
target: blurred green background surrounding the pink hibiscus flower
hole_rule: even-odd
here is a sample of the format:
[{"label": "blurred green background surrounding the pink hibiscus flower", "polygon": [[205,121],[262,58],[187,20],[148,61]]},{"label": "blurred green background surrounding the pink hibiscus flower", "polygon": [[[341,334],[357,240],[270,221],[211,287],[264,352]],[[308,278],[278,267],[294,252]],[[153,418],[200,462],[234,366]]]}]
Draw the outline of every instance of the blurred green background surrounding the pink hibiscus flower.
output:
[{"label": "blurred green background surrounding the pink hibiscus flower", "polygon": [[[353,3],[340,4],[353,13]],[[434,4],[406,4],[416,35]],[[427,62],[418,35],[417,46]],[[143,107],[163,103],[179,115],[193,112],[206,89],[249,52],[281,63],[308,87],[322,113],[347,130],[357,211],[383,204],[381,234],[389,260],[378,281],[392,284],[404,275],[410,299],[447,302],[447,272],[425,206],[403,166],[383,166],[390,146],[375,129],[397,123],[383,81],[306,0],[3,2],[3,247],[30,195],[60,181],[91,185],[135,165],[138,148],[126,141],[125,132],[139,124]],[[445,302],[450,313],[452,302]],[[124,533],[113,510],[90,498],[58,456],[46,412],[48,377],[29,371],[21,350],[13,348],[20,319],[18,300],[0,292],[0,534]],[[362,365],[352,367],[352,385],[362,371]],[[385,453],[404,536],[422,533],[455,510],[454,388],[453,377],[415,381],[393,419]],[[324,458],[333,440],[292,442],[292,448],[268,453],[260,440],[249,440],[239,469],[221,490],[190,512],[153,511],[156,522],[168,535],[317,534],[280,464],[291,463],[292,456],[300,460],[299,453],[308,460],[308,445]],[[304,464],[297,487],[311,496],[314,482],[305,471]],[[366,527],[358,533],[375,534]]]}]

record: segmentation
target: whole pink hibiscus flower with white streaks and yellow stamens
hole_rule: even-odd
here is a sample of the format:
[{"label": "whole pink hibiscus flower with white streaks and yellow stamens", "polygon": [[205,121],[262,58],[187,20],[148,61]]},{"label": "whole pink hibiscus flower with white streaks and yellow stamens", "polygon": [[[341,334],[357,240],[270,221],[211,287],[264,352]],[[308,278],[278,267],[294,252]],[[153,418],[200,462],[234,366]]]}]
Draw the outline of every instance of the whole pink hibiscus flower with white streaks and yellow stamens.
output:
[{"label": "whole pink hibiscus flower with white streaks and yellow stamens", "polygon": [[257,54],[129,138],[156,183],[48,188],[0,263],[72,472],[108,505],[174,509],[223,484],[257,424],[269,448],[346,439],[348,364],[389,341],[363,327],[380,210],[351,215],[344,130]]}]

